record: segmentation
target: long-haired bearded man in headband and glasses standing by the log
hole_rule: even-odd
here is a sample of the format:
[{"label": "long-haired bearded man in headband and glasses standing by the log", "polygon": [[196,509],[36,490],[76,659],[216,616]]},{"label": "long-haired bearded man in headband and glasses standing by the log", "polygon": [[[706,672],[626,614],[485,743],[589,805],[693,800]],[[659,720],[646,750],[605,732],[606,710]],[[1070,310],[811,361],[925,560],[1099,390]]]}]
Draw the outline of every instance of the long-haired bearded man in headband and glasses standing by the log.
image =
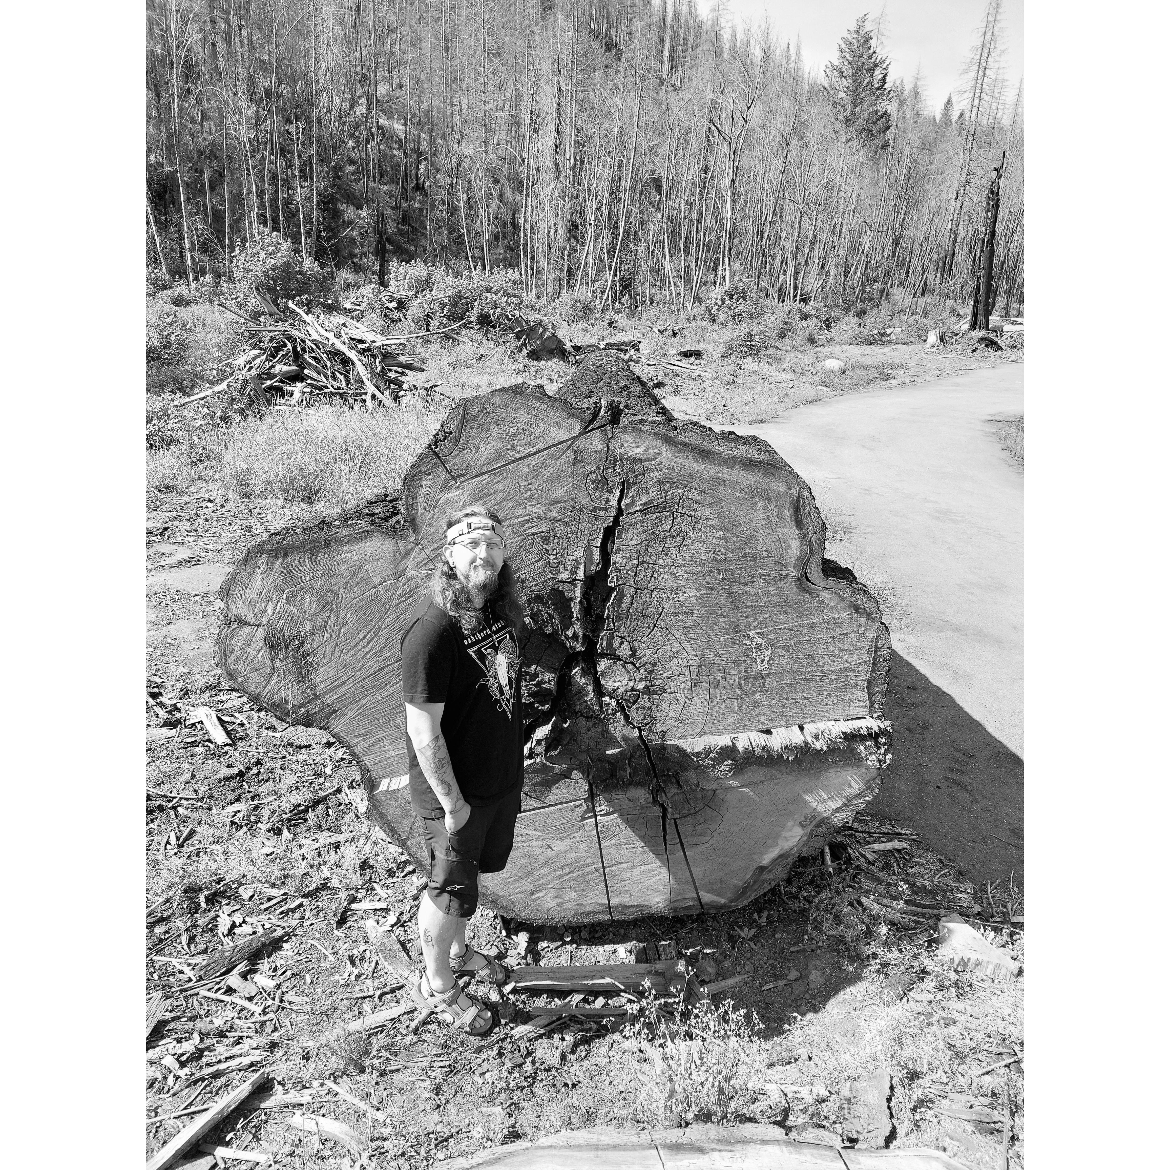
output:
[{"label": "long-haired bearded man in headband and glasses standing by the log", "polygon": [[425,971],[415,1003],[482,1035],[491,1012],[457,977],[507,982],[467,944],[479,875],[503,869],[523,779],[521,663],[524,612],[504,560],[500,517],[482,504],[450,514],[429,596],[402,634],[411,803],[422,821],[431,880],[419,906]]}]

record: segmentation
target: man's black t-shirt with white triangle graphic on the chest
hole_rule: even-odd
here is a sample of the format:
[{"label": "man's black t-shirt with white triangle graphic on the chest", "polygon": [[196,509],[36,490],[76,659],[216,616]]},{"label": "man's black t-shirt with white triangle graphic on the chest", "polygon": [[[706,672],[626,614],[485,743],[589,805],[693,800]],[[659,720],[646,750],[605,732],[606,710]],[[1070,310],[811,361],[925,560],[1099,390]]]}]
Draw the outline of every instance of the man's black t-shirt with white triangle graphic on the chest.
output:
[{"label": "man's black t-shirt with white triangle graphic on the chest", "polygon": [[[523,779],[521,662],[516,634],[491,610],[475,633],[425,599],[402,633],[402,697],[408,703],[443,703],[439,727],[447,741],[455,779],[472,805],[490,804]],[[419,768],[411,737],[411,793],[420,808],[442,815],[442,805]]]}]

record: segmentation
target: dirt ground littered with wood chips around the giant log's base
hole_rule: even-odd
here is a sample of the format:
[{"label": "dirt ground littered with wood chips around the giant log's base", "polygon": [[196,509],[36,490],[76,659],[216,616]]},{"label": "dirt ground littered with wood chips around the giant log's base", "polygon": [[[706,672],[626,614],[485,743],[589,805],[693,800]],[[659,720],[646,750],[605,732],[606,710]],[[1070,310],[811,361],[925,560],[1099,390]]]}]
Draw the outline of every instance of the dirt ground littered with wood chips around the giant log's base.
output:
[{"label": "dirt ground littered with wood chips around the giant log's base", "polygon": [[[641,1003],[628,1021],[541,1034],[524,1027],[539,1000],[504,991],[484,1039],[433,1019],[412,1031],[410,1011],[371,1035],[325,1038],[406,1002],[365,922],[411,948],[424,883],[365,820],[345,750],[253,708],[211,656],[223,574],[315,510],[233,502],[214,486],[150,507],[146,990],[161,998],[147,1035],[149,1154],[266,1071],[268,1095],[204,1142],[278,1166],[422,1168],[597,1124],[762,1121],[828,1144],[942,1149],[980,1170],[1002,1166],[1006,1147],[1007,1164],[1023,1164],[1023,979],[951,970],[932,947],[955,910],[1023,958],[1019,892],[973,887],[876,817],[730,914],[591,929],[476,915],[473,940],[511,964],[632,962],[635,944],[668,942],[707,983],[742,977],[681,1024],[670,1004]],[[191,716],[201,706],[230,746]],[[273,928],[287,934],[234,975],[199,978],[209,956]],[[875,1069],[892,1075],[890,1130],[867,1137],[849,1081]],[[347,1128],[335,1136],[331,1123]]]}]

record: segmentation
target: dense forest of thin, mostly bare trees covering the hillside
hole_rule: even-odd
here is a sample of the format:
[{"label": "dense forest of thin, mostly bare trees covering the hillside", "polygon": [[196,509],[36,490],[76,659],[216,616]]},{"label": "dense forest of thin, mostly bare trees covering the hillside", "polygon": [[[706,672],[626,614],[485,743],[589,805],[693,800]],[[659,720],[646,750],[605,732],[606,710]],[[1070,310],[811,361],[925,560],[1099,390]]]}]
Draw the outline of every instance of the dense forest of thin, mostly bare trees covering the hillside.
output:
[{"label": "dense forest of thin, mostly bare trees covering the hillside", "polygon": [[511,269],[603,309],[904,308],[970,298],[1003,164],[991,303],[1018,314],[1000,4],[935,111],[862,13],[814,70],[783,14],[695,0],[147,0],[147,264],[230,277],[275,233],[335,275]]}]

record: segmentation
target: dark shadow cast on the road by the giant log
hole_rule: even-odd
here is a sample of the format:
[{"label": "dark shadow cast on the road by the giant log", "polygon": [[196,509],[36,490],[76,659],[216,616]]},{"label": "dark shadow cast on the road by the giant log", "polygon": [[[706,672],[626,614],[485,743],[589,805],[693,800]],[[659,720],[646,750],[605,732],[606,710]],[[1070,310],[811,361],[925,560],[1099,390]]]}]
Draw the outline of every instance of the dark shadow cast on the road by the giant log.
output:
[{"label": "dark shadow cast on the road by the giant log", "polygon": [[882,715],[894,762],[867,806],[913,828],[977,886],[1024,885],[1024,760],[896,652]]}]

